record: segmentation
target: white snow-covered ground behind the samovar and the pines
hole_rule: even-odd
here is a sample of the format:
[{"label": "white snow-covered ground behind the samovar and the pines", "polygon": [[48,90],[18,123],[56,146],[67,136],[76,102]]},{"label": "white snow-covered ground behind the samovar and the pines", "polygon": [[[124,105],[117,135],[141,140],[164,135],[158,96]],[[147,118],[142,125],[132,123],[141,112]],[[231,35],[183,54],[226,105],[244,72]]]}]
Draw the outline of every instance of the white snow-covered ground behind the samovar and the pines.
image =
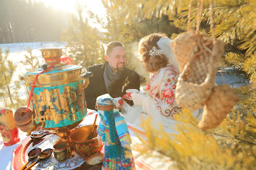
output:
[{"label": "white snow-covered ground behind the samovar and the pines", "polygon": [[[9,49],[9,58],[12,62],[17,66],[17,70],[15,75],[13,76],[14,80],[19,80],[19,77],[26,73],[26,67],[20,63],[20,61],[25,61],[25,55],[29,55],[26,49],[33,49],[33,55],[37,56],[40,59],[41,63],[43,62],[42,55],[40,49],[45,48],[64,48],[67,45],[66,42],[24,42],[24,43],[9,43],[9,44],[0,44],[0,48],[2,48],[2,53],[5,53],[5,49]],[[216,76],[216,83],[223,84],[227,83],[231,87],[240,87],[243,86],[248,81],[244,78],[244,75],[234,75],[232,72],[233,68],[225,68],[221,69]],[[25,83],[21,82],[22,89],[20,90],[21,97],[27,97],[27,91],[25,87]],[[2,102],[0,101],[0,108],[5,107],[2,106]]]}]

